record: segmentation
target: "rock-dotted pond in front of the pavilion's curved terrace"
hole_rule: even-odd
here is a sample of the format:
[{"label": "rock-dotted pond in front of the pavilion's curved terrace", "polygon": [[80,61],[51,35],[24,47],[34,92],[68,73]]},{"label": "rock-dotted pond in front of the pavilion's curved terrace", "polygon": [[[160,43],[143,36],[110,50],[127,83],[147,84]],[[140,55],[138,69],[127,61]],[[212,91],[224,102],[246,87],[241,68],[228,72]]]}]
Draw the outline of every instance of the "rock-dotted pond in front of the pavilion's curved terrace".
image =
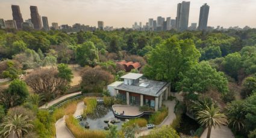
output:
[{"label": "rock-dotted pond in front of the pavilion's curved terrace", "polygon": [[[115,119],[112,112],[111,106],[104,106],[104,104],[98,104],[93,115],[87,115],[86,119],[82,119],[80,125],[86,126],[89,123],[90,130],[104,130],[104,127],[108,127],[108,123],[104,121]],[[116,118],[117,119],[117,118]],[[120,120],[119,123],[114,123],[117,125],[117,129],[122,128],[122,124],[125,120]]]}]

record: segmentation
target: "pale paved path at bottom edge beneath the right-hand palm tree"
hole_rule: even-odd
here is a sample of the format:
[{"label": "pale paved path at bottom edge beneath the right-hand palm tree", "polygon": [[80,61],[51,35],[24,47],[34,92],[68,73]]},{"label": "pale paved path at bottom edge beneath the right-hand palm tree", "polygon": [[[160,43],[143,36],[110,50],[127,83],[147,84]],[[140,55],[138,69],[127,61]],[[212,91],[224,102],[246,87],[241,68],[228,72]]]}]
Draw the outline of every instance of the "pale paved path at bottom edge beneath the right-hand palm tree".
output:
[{"label": "pale paved path at bottom edge beneath the right-hand palm tree", "polygon": [[[204,130],[204,133],[202,133],[201,138],[206,138],[207,137],[207,130],[208,129]],[[221,137],[235,138],[232,131],[226,126],[222,125],[220,128],[217,127],[216,129],[211,128],[211,138],[221,138]]]}]

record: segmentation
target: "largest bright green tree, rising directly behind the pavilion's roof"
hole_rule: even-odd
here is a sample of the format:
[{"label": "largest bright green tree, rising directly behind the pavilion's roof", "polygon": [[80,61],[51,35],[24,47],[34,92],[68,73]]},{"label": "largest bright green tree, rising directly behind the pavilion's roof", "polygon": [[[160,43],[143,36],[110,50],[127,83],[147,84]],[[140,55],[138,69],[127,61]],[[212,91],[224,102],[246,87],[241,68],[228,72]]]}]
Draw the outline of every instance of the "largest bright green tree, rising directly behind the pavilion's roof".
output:
[{"label": "largest bright green tree, rising directly behind the pavilion's roof", "polygon": [[179,73],[185,73],[200,57],[192,40],[169,38],[149,52],[148,65],[143,73],[146,77],[166,80],[176,85]]}]

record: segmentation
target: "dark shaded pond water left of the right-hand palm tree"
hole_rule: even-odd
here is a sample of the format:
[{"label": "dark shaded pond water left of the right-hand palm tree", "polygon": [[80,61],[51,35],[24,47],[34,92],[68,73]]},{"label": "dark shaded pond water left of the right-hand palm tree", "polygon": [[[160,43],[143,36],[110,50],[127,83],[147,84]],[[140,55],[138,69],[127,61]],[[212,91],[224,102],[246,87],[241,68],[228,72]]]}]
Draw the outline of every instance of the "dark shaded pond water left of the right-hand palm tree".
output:
[{"label": "dark shaded pond water left of the right-hand palm tree", "polygon": [[180,127],[177,128],[176,130],[178,131],[178,133],[183,133],[192,136],[199,127],[200,124],[198,124],[197,121],[190,118],[186,114],[183,114],[181,115]]}]

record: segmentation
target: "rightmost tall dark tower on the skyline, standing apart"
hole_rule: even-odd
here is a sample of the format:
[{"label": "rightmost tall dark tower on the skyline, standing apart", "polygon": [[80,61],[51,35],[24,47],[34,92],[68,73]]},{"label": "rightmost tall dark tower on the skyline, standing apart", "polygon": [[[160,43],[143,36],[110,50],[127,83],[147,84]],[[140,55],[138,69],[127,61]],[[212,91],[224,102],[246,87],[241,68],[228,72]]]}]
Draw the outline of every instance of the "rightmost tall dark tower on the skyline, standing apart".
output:
[{"label": "rightmost tall dark tower on the skyline, standing apart", "polygon": [[199,30],[207,29],[209,8],[210,7],[207,4],[202,5],[202,7],[200,8],[199,25],[198,25]]}]

